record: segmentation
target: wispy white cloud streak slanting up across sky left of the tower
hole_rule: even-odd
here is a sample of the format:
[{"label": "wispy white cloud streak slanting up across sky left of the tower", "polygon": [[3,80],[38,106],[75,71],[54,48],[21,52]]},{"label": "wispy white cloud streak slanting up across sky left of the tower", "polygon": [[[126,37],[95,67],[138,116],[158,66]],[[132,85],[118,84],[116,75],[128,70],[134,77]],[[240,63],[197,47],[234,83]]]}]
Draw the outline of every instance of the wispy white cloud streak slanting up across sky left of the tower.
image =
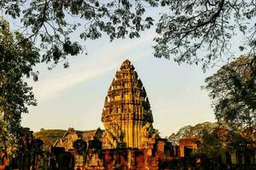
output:
[{"label": "wispy white cloud streak slanting up across sky left of the tower", "polygon": [[[81,82],[90,81],[108,71],[117,69],[120,63],[127,58],[125,54],[131,54],[138,50],[143,50],[143,46],[150,45],[154,35],[135,41],[117,41],[105,47],[97,48],[83,62],[72,65],[68,69],[60,69],[54,75],[49,71],[40,73],[41,80],[32,83],[36,98],[40,101],[54,97],[56,94],[67,88],[72,88]],[[130,57],[132,61],[142,59],[145,55]],[[44,78],[45,77],[45,78]]]}]

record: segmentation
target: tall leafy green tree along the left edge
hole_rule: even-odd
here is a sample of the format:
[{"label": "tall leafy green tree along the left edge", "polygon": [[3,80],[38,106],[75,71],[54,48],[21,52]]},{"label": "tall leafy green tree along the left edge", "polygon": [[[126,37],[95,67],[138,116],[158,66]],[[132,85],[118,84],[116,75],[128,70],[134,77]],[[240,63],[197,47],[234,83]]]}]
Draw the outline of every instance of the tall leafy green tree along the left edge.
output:
[{"label": "tall leafy green tree along the left edge", "polygon": [[27,113],[27,105],[36,105],[32,88],[23,80],[24,77],[37,75],[32,73],[32,66],[39,62],[38,49],[19,32],[10,32],[9,23],[0,18],[0,112],[1,145],[6,150],[17,148],[17,138],[22,131],[20,119]]}]

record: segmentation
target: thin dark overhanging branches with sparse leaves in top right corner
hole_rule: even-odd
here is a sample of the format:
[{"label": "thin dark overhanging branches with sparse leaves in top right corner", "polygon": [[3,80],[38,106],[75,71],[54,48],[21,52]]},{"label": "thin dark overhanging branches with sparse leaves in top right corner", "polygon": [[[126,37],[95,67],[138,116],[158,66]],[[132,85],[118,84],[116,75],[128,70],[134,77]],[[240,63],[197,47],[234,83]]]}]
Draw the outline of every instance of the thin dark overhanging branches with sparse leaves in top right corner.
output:
[{"label": "thin dark overhanging branches with sparse leaves in top right corner", "polygon": [[161,5],[171,12],[162,14],[157,23],[160,37],[154,39],[155,57],[173,55],[178,63],[201,62],[206,69],[233,52],[232,37],[237,34],[246,39],[238,42],[239,49],[255,54],[255,0],[163,0]]}]

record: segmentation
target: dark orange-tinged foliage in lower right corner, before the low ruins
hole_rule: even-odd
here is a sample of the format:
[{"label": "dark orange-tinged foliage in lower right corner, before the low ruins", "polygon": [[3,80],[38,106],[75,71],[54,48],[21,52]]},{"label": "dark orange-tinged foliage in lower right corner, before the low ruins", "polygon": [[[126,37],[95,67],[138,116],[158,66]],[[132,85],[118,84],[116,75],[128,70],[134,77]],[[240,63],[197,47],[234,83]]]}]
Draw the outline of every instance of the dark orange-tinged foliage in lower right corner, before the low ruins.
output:
[{"label": "dark orange-tinged foliage in lower right corner, before the low ruins", "polygon": [[[241,153],[241,155],[253,157],[254,143],[241,132],[214,127],[212,132],[204,131],[199,148],[195,150],[193,156],[200,158],[201,165],[207,169],[227,169],[227,163],[231,163],[230,154],[235,150],[236,154]],[[223,158],[226,163],[222,161]],[[240,166],[241,164],[236,168],[240,169]]]}]

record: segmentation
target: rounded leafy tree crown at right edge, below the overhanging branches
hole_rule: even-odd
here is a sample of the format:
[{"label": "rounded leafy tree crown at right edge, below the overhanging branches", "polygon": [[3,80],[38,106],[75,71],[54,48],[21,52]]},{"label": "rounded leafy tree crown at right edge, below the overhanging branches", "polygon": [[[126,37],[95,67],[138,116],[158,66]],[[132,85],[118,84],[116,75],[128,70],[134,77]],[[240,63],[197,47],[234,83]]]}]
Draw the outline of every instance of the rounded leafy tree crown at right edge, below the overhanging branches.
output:
[{"label": "rounded leafy tree crown at right edge, below the overhanging branches", "polygon": [[214,113],[218,122],[248,128],[256,124],[256,59],[241,56],[207,77]]}]

